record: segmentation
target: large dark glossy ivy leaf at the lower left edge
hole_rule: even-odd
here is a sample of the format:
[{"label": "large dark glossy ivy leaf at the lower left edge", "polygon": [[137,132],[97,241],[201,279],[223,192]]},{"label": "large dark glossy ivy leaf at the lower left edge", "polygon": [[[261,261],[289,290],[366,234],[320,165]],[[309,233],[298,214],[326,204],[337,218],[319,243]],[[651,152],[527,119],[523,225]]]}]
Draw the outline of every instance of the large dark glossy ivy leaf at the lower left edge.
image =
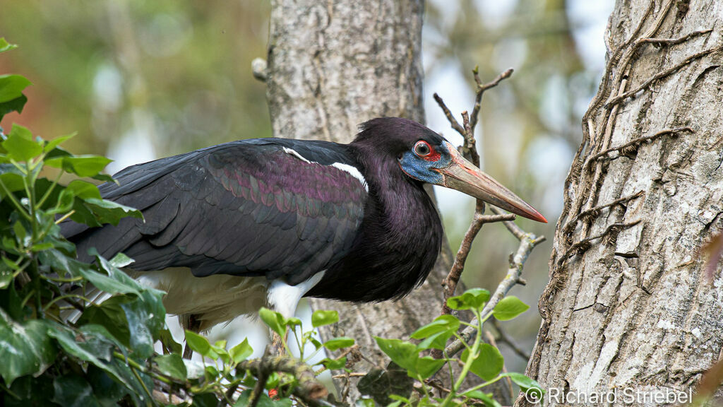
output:
[{"label": "large dark glossy ivy leaf at the lower left edge", "polygon": [[56,348],[48,337],[48,322],[14,322],[0,308],[0,376],[7,386],[25,374],[38,375],[55,360]]}]

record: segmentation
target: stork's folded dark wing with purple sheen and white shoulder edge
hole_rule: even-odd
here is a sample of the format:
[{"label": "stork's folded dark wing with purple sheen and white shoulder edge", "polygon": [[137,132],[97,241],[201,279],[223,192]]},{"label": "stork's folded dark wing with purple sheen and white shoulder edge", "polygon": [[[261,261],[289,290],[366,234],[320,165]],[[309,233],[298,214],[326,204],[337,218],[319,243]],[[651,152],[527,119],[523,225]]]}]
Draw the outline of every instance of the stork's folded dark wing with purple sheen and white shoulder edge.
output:
[{"label": "stork's folded dark wing with purple sheen and white shoulder edge", "polygon": [[[336,164],[335,164],[336,163]],[[137,271],[190,267],[210,274],[307,280],[349,251],[367,191],[346,146],[267,139],[221,144],[124,169],[104,198],[140,219],[88,229],[65,223],[84,255],[124,252]],[[87,259],[87,258],[86,258]]]}]

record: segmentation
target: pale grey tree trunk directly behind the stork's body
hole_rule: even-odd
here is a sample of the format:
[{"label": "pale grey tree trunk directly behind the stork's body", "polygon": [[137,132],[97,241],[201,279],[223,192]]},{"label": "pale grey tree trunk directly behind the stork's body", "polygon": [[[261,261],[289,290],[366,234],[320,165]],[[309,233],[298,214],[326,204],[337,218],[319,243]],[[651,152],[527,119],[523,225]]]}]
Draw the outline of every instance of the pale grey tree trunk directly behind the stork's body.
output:
[{"label": "pale grey tree trunk directly behind the stork's body", "polygon": [[[273,134],[348,143],[357,125],[374,117],[424,122],[423,12],[423,0],[272,1],[267,94]],[[427,281],[401,301],[312,300],[313,308],[341,316],[320,330],[322,338],[354,337],[364,356],[385,366],[373,337],[408,337],[439,314],[450,259],[445,245]],[[361,361],[354,369],[369,367]]]}]

